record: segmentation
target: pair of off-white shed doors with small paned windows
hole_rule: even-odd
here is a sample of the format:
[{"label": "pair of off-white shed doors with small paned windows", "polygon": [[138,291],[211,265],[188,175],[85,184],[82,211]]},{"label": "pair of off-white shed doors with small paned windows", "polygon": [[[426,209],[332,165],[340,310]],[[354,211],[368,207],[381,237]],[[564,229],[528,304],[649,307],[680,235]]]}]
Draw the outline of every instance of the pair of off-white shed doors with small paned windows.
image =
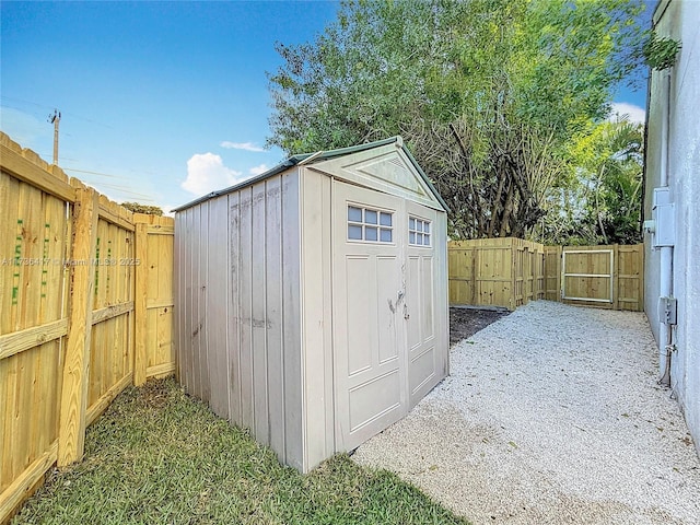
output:
[{"label": "pair of off-white shed doors with small paned windows", "polygon": [[336,450],[402,418],[436,383],[435,212],[334,180]]}]

